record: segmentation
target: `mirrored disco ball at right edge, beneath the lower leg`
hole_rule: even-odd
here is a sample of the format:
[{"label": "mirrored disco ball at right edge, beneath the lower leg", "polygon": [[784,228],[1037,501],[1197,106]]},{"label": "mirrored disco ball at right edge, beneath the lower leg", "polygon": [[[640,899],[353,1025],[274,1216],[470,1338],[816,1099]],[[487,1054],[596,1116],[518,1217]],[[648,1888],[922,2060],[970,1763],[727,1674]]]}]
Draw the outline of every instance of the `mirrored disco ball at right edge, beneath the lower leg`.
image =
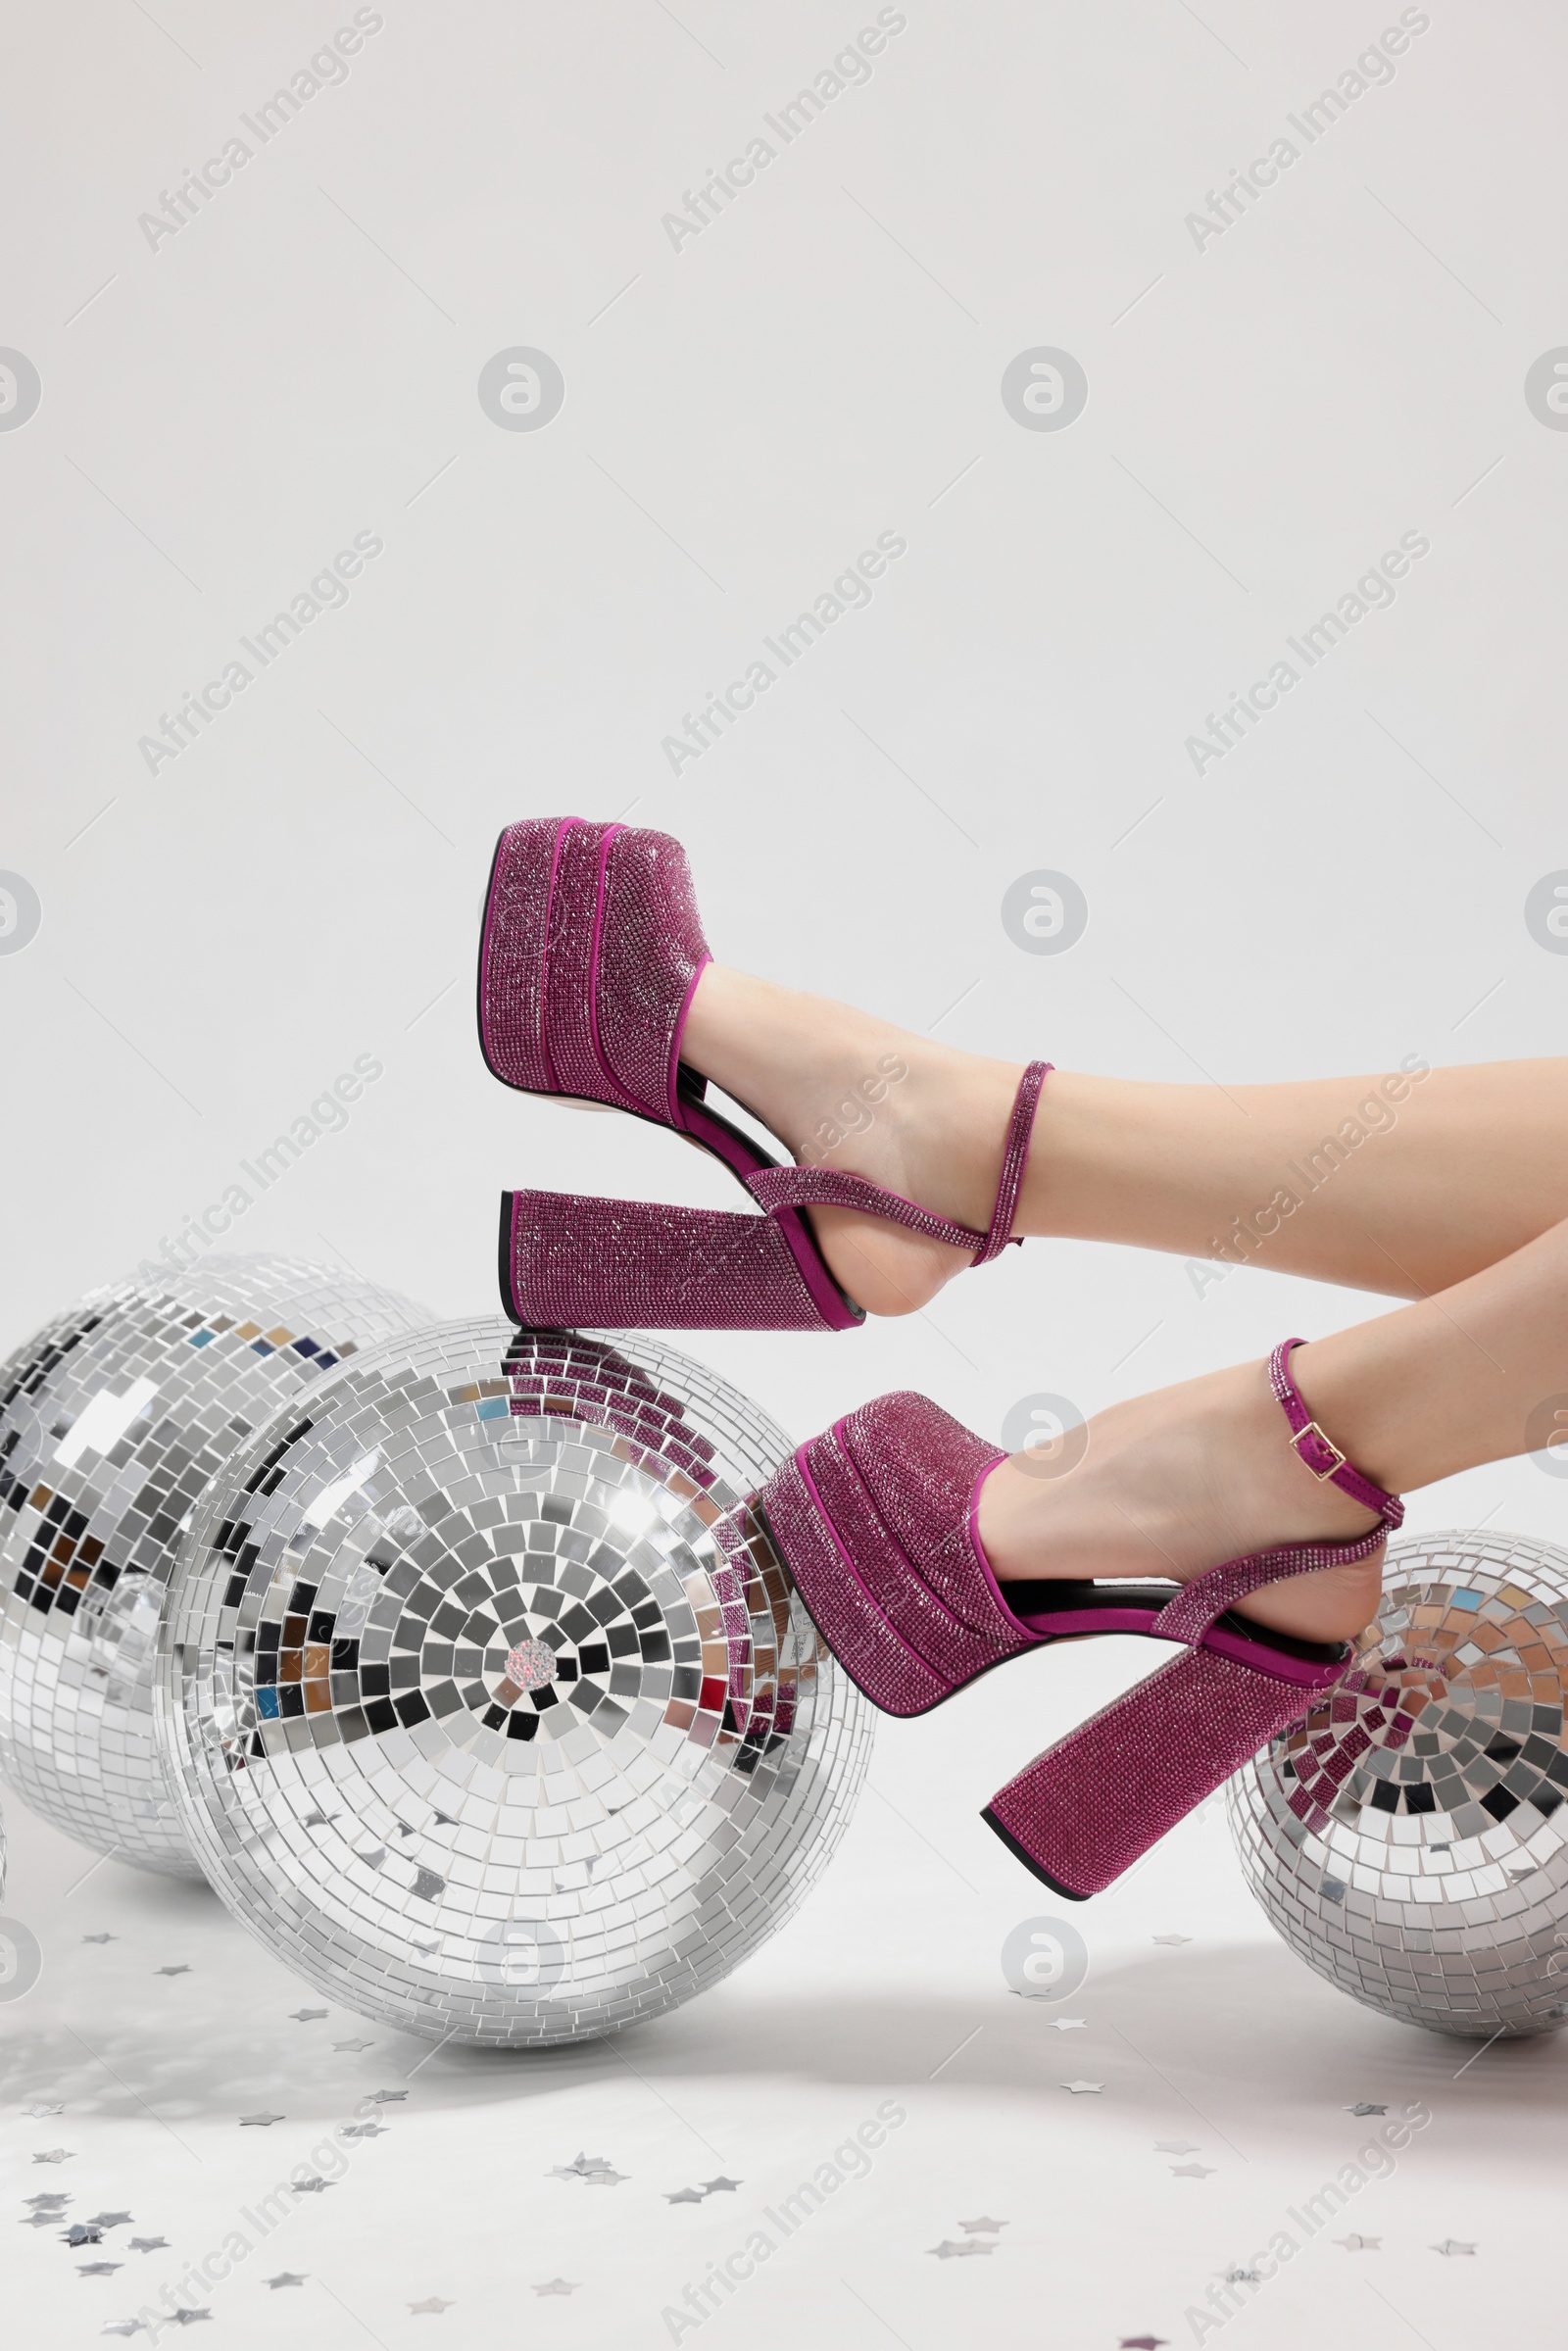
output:
[{"label": "mirrored disco ball at right edge, beneath the lower leg", "polygon": [[1352,1998],[1441,2034],[1568,2015],[1568,1552],[1389,1542],[1331,1700],[1229,1784],[1248,1886]]}]

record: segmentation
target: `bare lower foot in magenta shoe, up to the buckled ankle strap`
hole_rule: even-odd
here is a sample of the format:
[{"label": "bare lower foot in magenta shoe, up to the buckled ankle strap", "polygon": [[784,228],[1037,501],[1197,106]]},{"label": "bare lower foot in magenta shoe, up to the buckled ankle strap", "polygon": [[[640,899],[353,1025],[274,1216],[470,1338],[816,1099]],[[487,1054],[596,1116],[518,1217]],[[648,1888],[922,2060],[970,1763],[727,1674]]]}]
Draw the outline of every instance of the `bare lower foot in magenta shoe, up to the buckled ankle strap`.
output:
[{"label": "bare lower foot in magenta shoe, up to the buckled ankle strap", "polygon": [[[1312,1349],[1291,1357],[1309,1378]],[[1368,1533],[1373,1514],[1298,1460],[1267,1364],[1239,1364],[1095,1413],[1053,1474],[1013,1453],[980,1488],[980,1540],[1001,1582],[1173,1578],[1281,1542]],[[1342,1444],[1345,1439],[1340,1439]],[[1072,1455],[1067,1455],[1072,1458]],[[1265,1585],[1241,1613],[1300,1641],[1349,1641],[1378,1613],[1382,1547],[1347,1568]]]}]

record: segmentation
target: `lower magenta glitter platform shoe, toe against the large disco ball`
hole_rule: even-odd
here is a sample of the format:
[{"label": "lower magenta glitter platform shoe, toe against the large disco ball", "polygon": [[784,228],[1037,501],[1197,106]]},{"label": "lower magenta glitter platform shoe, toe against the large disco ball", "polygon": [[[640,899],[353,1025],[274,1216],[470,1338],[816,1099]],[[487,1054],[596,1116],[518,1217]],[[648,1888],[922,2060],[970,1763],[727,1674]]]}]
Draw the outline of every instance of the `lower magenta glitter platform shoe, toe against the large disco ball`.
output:
[{"label": "lower magenta glitter platform shoe, toe against the large disco ball", "polygon": [[1291,1338],[1274,1349],[1269,1382],[1305,1467],[1378,1512],[1378,1526],[1349,1542],[1255,1552],[1190,1585],[999,1585],[978,1502],[1006,1455],[912,1394],[849,1413],[799,1446],[757,1498],[816,1629],[884,1714],[929,1714],[1044,1641],[1133,1632],[1187,1648],[985,1810],[1056,1893],[1084,1900],[1110,1886],[1349,1662],[1349,1643],[1295,1641],[1234,1606],[1260,1585],[1366,1559],[1403,1519],[1403,1505],[1352,1469],[1312,1420],[1288,1371],[1300,1345]]}]

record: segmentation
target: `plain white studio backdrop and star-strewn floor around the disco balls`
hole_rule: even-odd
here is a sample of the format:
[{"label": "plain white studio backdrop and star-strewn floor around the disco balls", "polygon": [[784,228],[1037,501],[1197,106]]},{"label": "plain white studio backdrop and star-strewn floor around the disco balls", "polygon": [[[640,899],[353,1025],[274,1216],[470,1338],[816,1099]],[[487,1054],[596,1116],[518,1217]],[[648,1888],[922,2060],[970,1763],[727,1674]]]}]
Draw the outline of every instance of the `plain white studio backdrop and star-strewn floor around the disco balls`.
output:
[{"label": "plain white studio backdrop and star-strewn floor around the disco balls", "polygon": [[[1568,437],[1523,400],[1568,341],[1556,9],[1434,5],[1394,80],[1197,249],[1206,190],[1396,9],[910,0],[870,82],[675,252],[682,190],[872,9],[388,0],[348,80],[148,249],[139,214],[348,14],[94,0],[0,35],[0,343],[42,376],[0,433],[0,868],[42,905],[0,957],[0,1345],[155,1255],[362,1053],[383,1077],[348,1128],[235,1239],[458,1314],[494,1302],[503,1183],[733,1206],[670,1136],[484,1074],[477,903],[522,813],[675,830],[722,959],[1020,1060],[1234,1084],[1559,1051],[1568,962],[1523,922],[1568,865]],[[545,430],[477,402],[508,346],[564,371]],[[1001,407],[1030,346],[1088,374],[1067,430]],[[682,715],[886,529],[907,555],[870,609],[672,776]],[[348,607],[148,773],[160,712],[355,531],[386,550]],[[1403,531],[1432,552],[1394,607],[1194,776],[1206,712]],[[999,922],[1037,868],[1088,898],[1065,957]],[[994,1432],[1030,1392],[1093,1411],[1368,1305],[1267,1272],[1199,1298],[1178,1260],[1032,1244],[907,1324],[693,1345],[799,1434],[891,1385]],[[1519,1462],[1420,1495],[1410,1523],[1552,1538],[1566,1502]],[[433,2059],[397,2135],[268,2259],[310,2283],[240,2276],[214,2325],[668,2342],[698,2255],[900,2095],[872,2179],[705,2342],[1190,2342],[1213,2273],[1356,2144],[1345,2102],[1427,2095],[1434,2125],[1366,2191],[1380,2219],[1347,2222],[1382,2252],[1324,2233],[1227,2337],[1556,2342],[1561,2057],[1500,2048],[1450,2083],[1462,2048],[1359,2012],[1269,1940],[1218,1808],[1079,1914],[1084,2034],[1004,1994],[1001,1935],[1051,1904],[976,1810],[1131,1679],[1114,1650],[884,1726],[802,1921],[628,2045],[651,2088],[602,2050]],[[16,2196],[129,2205],[195,2257],[303,2156],[310,2116],[418,2059],[378,2048],[339,2085],[216,1904],[113,1867],[66,1902],[75,1848],[14,1806],[12,1834],[7,1907],[49,1956],[0,2017]],[[78,1947],[106,1925],[120,1944]],[[186,1954],[197,1972],[153,1980]],[[1077,2074],[1105,2092],[1056,2088]],[[52,2097],[59,2123],[21,2116]],[[237,2135],[259,2104],[299,2146]],[[1215,2130],[1239,2154],[1213,2156]],[[1157,2135],[1215,2175],[1171,2179]],[[625,2184],[543,2177],[595,2139]],[[33,2165],[54,2144],[80,2154]],[[715,2170],[745,2189],[663,2203]],[[971,2212],[1009,2217],[999,2252],[929,2259]],[[1476,2257],[1427,2250],[1446,2236]],[[38,2342],[96,2335],[165,2276],[148,2255],[78,2280],[49,2231],[9,2248]],[[557,2273],[583,2290],[536,2302]],[[428,2295],[451,2309],[411,2316]]]}]

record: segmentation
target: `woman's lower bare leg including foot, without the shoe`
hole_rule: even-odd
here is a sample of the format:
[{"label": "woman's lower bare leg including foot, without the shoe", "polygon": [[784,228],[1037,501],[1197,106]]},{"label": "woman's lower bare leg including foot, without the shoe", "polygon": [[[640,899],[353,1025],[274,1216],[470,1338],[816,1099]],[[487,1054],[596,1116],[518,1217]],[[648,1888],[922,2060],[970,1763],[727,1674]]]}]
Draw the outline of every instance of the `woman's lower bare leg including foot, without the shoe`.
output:
[{"label": "woman's lower bare leg including foot, without the shoe", "polygon": [[[1540,1446],[1549,1432],[1533,1415],[1568,1394],[1568,1220],[1434,1298],[1298,1347],[1291,1373],[1319,1427],[1389,1493]],[[1044,1451],[992,1469],[980,1540],[1001,1580],[1187,1582],[1279,1542],[1366,1533],[1371,1512],[1319,1483],[1286,1439],[1262,1364],[1112,1404],[1070,1467]],[[1349,1639],[1378,1608],[1380,1559],[1267,1585],[1246,1615]]]}]

